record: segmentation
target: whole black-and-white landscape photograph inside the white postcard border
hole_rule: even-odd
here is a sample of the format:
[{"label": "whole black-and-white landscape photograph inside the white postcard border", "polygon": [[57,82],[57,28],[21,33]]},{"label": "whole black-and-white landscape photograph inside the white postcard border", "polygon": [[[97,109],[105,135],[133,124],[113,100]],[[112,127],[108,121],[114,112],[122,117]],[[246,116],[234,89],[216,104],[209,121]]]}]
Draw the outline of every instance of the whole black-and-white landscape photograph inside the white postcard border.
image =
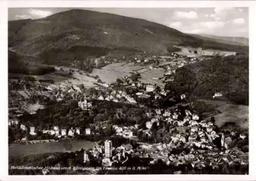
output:
[{"label": "whole black-and-white landscape photograph inside the white postcard border", "polygon": [[8,175],[251,174],[231,5],[9,7]]}]

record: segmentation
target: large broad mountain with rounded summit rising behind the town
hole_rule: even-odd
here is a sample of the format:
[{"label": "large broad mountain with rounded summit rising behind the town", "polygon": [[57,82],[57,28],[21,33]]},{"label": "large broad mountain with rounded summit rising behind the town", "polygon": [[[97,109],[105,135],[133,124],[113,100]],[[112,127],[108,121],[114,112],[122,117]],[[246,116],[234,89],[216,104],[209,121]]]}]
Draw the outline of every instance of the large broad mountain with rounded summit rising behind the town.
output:
[{"label": "large broad mountain with rounded summit rising behind the town", "polygon": [[53,64],[60,62],[60,55],[65,62],[118,50],[167,54],[176,50],[173,45],[248,51],[245,47],[198,38],[144,19],[80,9],[46,18],[9,21],[8,25],[10,48]]}]

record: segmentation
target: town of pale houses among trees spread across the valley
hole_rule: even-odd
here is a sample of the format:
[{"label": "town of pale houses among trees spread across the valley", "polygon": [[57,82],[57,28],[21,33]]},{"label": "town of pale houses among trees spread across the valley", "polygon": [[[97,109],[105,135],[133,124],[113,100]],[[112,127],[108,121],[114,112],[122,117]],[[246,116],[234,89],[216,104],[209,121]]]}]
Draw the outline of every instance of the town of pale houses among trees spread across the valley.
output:
[{"label": "town of pale houses among trees spread across the valley", "polygon": [[[172,81],[174,79],[175,70],[184,66],[185,63],[194,63],[204,59],[202,57],[189,58],[182,55],[183,59],[176,63],[168,61],[177,57],[181,56],[172,53],[169,57],[153,56],[151,60],[144,59],[144,62],[152,62],[147,66],[147,69],[150,70],[159,69],[159,67],[164,68],[164,82],[168,82],[167,80]],[[135,57],[134,63],[141,63],[141,60]],[[108,84],[97,81],[97,86],[91,88],[82,84],[66,87],[58,87],[49,83],[36,84],[29,79],[18,80],[18,82],[9,81],[9,86],[15,87],[15,89],[18,87],[19,90],[33,92],[34,87],[36,87],[36,90],[41,89],[42,92],[47,91],[53,94],[52,97],[54,98],[46,99],[44,97],[44,100],[35,96],[34,99],[37,100],[37,104],[38,100],[47,106],[54,105],[51,103],[52,101],[60,104],[75,101],[75,107],[77,106],[75,112],[91,112],[100,102],[112,102],[112,104],[121,103],[132,106],[135,111],[141,109],[143,110],[142,114],[144,114],[142,116],[141,111],[134,112],[133,120],[125,123],[125,119],[127,119],[124,118],[125,116],[123,117],[125,113],[123,110],[117,109],[113,112],[114,117],[111,118],[111,116],[106,115],[107,117],[102,117],[99,122],[97,121],[98,116],[96,116],[91,123],[82,127],[67,126],[63,122],[59,125],[51,123],[47,126],[38,126],[38,124],[34,124],[37,119],[36,115],[39,114],[38,111],[26,113],[24,116],[24,110],[10,107],[10,143],[38,144],[88,138],[102,142],[104,136],[108,135],[110,140],[105,140],[102,145],[96,144],[93,148],[84,150],[83,163],[81,164],[90,166],[90,160],[93,159],[98,163],[98,166],[127,166],[127,163],[136,158],[150,158],[151,160],[147,160],[148,165],[154,165],[161,160],[167,166],[179,167],[190,164],[190,170],[210,168],[215,171],[220,168],[223,169],[223,165],[228,167],[239,165],[243,173],[248,173],[248,151],[244,148],[248,145],[248,133],[239,130],[220,130],[215,125],[214,117],[211,117],[210,120],[200,118],[194,109],[195,105],[186,99],[186,94],[170,97],[169,90],[161,88],[157,84],[141,82],[140,78],[140,73],[133,72],[123,78],[118,78],[116,83]],[[221,93],[217,92],[212,95],[212,99],[218,98],[222,98]],[[17,100],[23,99],[22,96],[19,96]],[[165,106],[166,100],[168,105],[173,106]],[[9,105],[13,105],[13,103],[9,103]],[[140,121],[142,119],[143,121]],[[24,122],[24,120],[26,121]],[[83,122],[83,119],[81,121]],[[79,122],[78,125],[82,122]],[[18,133],[18,136],[14,135],[15,132]],[[100,139],[95,140],[96,135]],[[120,137],[136,143],[136,146],[123,143],[113,147],[112,140]],[[177,173],[186,173],[185,170],[177,171]],[[50,172],[44,170],[42,173],[48,174]]]}]

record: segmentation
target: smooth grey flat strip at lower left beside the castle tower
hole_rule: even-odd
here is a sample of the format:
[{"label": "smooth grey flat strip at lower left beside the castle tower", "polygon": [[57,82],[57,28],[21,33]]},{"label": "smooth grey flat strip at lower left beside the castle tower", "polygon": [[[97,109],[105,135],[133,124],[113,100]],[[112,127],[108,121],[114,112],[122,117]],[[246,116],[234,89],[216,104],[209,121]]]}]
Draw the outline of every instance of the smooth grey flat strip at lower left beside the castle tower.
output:
[{"label": "smooth grey flat strip at lower left beside the castle tower", "polygon": [[9,156],[25,156],[29,154],[71,152],[93,148],[95,143],[89,141],[59,141],[53,143],[40,143],[33,145],[9,146]]}]

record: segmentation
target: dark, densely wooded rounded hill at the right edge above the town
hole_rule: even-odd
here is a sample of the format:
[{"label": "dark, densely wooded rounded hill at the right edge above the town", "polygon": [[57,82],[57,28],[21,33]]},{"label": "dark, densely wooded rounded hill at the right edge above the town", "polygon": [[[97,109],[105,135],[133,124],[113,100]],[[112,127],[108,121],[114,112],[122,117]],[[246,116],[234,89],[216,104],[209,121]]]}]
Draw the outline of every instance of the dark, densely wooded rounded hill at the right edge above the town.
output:
[{"label": "dark, densely wooded rounded hill at the right edge above the town", "polygon": [[249,104],[249,57],[214,57],[188,64],[176,71],[173,83],[178,94],[210,99],[220,92],[229,101]]}]

